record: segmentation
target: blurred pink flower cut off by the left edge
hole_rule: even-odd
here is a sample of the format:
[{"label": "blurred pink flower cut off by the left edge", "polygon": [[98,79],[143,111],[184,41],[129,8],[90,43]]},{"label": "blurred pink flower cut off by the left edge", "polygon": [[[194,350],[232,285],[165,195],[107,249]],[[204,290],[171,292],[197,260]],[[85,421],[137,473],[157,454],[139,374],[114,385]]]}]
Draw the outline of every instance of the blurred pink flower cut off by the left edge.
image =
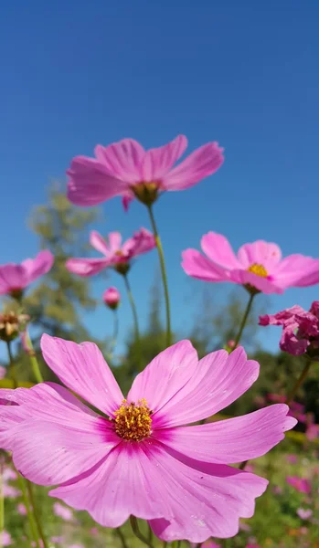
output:
[{"label": "blurred pink flower cut off by the left edge", "polygon": [[0,266],[0,295],[19,297],[43,274],[47,274],[53,265],[54,257],[48,250],[40,251],[36,258],[26,258],[21,264],[7,263]]}]

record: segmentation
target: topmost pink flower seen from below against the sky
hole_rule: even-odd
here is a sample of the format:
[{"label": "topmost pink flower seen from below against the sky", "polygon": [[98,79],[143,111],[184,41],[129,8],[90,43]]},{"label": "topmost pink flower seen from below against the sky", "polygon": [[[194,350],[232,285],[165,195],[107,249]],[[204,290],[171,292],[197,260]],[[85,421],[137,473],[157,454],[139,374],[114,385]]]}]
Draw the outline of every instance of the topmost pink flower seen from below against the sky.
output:
[{"label": "topmost pink flower seen from below against the sky", "polygon": [[97,205],[122,195],[123,205],[134,197],[152,204],[159,193],[184,190],[214,174],[224,161],[217,142],[207,142],[174,167],[185,153],[187,139],[174,141],[145,151],[133,139],[123,139],[95,147],[95,158],[76,156],[71,162],[68,197],[76,205]]}]

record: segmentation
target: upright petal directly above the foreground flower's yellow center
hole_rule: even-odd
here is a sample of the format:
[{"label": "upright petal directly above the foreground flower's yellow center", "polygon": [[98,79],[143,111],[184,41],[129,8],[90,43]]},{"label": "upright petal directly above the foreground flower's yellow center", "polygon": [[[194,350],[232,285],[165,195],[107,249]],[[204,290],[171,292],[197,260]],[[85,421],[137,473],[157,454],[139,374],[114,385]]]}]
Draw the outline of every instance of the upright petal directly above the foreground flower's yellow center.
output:
[{"label": "upright petal directly above the foreground flower's yellow center", "polygon": [[155,412],[189,381],[197,368],[197,352],[191,342],[176,342],[159,353],[144,371],[138,374],[127,395],[129,402],[146,399]]}]

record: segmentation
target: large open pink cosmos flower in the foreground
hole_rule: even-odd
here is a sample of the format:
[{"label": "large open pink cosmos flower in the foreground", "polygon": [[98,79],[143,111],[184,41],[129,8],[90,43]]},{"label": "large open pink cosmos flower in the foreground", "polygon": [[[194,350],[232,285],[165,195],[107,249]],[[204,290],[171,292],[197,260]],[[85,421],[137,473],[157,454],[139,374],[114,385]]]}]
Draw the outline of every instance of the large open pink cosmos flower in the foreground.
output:
[{"label": "large open pink cosmos flower in the foreground", "polygon": [[185,426],[229,406],[257,379],[259,364],[242,348],[198,362],[189,341],[177,342],[135,377],[126,400],[95,344],[43,335],[41,348],[60,381],[104,416],[60,385],[2,390],[17,404],[0,406],[2,447],[27,479],[59,484],[52,497],[102,526],[133,514],[168,542],[233,536],[239,517],[252,516],[268,482],[228,464],[279,443],[296,424],[288,406]]}]

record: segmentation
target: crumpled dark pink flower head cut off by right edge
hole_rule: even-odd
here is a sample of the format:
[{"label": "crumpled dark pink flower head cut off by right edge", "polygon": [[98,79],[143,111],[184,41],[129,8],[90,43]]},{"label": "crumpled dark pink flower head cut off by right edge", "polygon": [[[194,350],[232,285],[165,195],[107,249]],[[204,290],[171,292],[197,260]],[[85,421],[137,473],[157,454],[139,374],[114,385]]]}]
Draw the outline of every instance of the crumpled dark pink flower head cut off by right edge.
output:
[{"label": "crumpled dark pink flower head cut off by right edge", "polygon": [[319,360],[319,300],[314,300],[310,311],[295,305],[277,314],[260,317],[260,325],[281,325],[282,351],[300,356],[307,353]]}]

